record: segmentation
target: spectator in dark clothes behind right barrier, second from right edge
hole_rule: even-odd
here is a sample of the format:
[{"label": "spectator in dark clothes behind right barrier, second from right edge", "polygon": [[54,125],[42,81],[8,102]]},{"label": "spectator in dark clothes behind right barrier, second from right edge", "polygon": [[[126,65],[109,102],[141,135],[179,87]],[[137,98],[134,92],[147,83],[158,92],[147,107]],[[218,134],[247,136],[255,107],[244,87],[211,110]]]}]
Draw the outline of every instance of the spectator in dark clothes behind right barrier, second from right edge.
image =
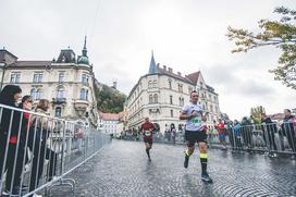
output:
[{"label": "spectator in dark clothes behind right barrier, second from right edge", "polygon": [[266,113],[261,114],[261,130],[263,132],[263,139],[267,147],[276,151],[278,147],[274,140],[274,133],[276,132],[276,124],[271,121]]}]

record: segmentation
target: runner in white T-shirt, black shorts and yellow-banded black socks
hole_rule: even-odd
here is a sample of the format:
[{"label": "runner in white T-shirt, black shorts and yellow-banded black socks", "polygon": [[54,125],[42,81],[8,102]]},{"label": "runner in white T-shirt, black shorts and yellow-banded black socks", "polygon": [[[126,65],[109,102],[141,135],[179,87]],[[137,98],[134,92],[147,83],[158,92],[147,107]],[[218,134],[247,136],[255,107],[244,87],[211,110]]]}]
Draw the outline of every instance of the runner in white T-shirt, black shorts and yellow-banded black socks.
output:
[{"label": "runner in white T-shirt, black shorts and yellow-banded black socks", "polygon": [[[202,122],[207,121],[201,104],[198,104],[198,93],[190,93],[190,104],[185,106],[180,114],[180,120],[186,120],[185,139],[187,141],[187,150],[185,151],[184,168],[188,168],[189,157],[195,150],[195,143],[199,146],[199,157],[201,163],[201,180],[212,183],[212,178],[207,172],[208,153],[207,153],[207,134]],[[202,121],[202,122],[201,122]]]}]

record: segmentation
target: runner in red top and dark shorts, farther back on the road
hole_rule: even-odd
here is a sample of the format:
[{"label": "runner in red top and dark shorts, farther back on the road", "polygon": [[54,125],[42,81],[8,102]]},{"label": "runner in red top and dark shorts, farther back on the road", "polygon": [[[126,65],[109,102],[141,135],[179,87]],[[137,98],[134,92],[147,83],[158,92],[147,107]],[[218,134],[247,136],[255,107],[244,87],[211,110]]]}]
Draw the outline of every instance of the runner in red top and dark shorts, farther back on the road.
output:
[{"label": "runner in red top and dark shorts, farther back on the road", "polygon": [[153,143],[153,131],[155,125],[151,122],[149,122],[149,118],[145,118],[145,122],[140,126],[140,132],[146,146],[146,153],[148,156],[149,161],[151,161],[150,149],[152,148]]}]

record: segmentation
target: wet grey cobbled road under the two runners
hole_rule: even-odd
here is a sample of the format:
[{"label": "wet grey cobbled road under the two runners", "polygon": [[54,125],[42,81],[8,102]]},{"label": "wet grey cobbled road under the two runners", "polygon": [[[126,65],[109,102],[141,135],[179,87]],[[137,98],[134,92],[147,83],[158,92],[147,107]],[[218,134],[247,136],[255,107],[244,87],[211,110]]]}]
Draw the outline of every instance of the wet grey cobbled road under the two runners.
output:
[{"label": "wet grey cobbled road under the two runners", "polygon": [[184,146],[155,144],[149,162],[143,143],[113,140],[88,165],[71,174],[77,182],[66,196],[296,196],[296,162],[262,155],[209,150],[209,173],[213,184],[200,181],[200,163],[195,152],[189,168],[183,168]]}]

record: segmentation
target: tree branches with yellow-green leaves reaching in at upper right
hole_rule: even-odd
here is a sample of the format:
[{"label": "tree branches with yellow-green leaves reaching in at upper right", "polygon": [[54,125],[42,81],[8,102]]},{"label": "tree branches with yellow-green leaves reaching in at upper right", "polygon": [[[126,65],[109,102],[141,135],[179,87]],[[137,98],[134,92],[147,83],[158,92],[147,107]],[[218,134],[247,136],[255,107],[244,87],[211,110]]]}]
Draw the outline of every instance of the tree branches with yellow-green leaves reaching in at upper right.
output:
[{"label": "tree branches with yellow-green leaves reaching in at upper right", "polygon": [[279,7],[274,12],[281,15],[281,20],[260,20],[260,33],[230,26],[226,36],[235,41],[236,48],[232,52],[247,52],[263,46],[280,48],[282,54],[279,65],[269,72],[274,73],[275,81],[282,81],[287,87],[296,89],[296,11]]}]

